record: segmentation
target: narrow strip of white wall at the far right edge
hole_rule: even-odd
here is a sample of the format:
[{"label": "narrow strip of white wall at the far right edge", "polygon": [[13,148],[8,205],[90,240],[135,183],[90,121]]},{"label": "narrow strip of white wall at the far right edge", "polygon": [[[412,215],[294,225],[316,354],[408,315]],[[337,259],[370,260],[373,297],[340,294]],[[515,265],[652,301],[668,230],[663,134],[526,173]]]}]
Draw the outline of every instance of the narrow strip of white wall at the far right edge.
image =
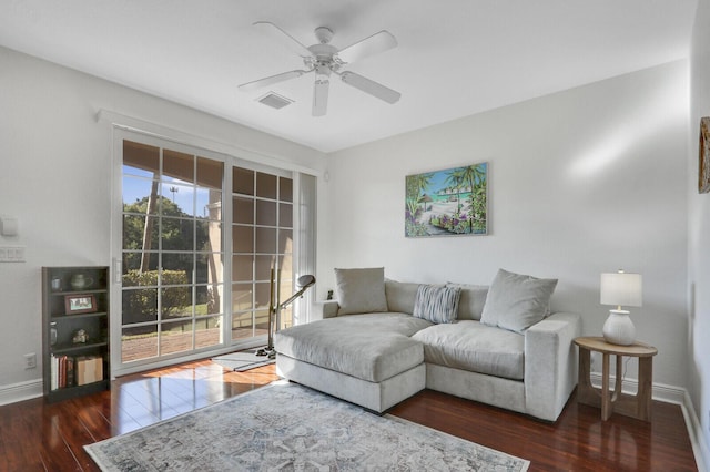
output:
[{"label": "narrow strip of white wall at the far right edge", "polygon": [[[690,74],[689,188],[689,391],[710,448],[710,194],[698,194],[700,117],[710,116],[710,0],[698,2]],[[710,460],[710,458],[708,458]]]}]

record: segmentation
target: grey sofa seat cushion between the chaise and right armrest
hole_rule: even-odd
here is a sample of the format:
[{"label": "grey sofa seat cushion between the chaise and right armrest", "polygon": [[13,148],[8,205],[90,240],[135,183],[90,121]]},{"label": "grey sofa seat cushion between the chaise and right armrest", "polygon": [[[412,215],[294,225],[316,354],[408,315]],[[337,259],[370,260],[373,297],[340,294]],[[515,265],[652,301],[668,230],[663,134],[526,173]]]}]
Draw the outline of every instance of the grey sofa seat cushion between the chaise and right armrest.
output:
[{"label": "grey sofa seat cushion between the chaise and right armrest", "polygon": [[412,339],[424,343],[424,361],[439,366],[523,380],[525,336],[474,320],[435,325]]}]

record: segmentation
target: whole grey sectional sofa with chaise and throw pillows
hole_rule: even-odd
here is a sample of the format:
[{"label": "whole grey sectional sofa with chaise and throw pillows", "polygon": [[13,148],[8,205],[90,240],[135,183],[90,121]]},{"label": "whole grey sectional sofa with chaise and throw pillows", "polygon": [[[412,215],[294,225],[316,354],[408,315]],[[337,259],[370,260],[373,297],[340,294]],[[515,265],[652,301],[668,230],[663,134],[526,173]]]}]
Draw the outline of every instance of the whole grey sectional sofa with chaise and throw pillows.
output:
[{"label": "whole grey sectional sofa with chaise and throw pillows", "polygon": [[556,284],[503,269],[489,287],[336,269],[323,319],[275,335],[277,372],[376,412],[428,388],[555,421],[581,331],[578,315],[549,312]]}]

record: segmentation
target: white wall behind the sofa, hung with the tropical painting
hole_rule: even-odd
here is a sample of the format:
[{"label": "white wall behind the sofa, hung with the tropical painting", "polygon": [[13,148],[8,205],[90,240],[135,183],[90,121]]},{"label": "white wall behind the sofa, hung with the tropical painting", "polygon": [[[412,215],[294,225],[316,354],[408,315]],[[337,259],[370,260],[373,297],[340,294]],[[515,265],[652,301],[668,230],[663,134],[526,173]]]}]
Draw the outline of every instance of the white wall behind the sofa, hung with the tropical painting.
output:
[{"label": "white wall behind the sofa, hung with the tropical painting", "polygon": [[[687,121],[682,61],[334,153],[318,290],[333,267],[473,284],[503,267],[559,278],[554,308],[600,335],[599,275],[639,271],[655,381],[686,387]],[[483,161],[489,236],[404,237],[406,175]]]}]

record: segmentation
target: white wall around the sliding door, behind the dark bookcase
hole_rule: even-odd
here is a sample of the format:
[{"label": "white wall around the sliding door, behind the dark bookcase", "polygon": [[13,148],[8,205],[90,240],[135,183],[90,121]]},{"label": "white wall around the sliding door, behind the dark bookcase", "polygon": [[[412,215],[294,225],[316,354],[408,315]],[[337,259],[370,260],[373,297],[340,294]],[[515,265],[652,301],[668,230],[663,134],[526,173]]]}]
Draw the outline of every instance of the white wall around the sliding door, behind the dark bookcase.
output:
[{"label": "white wall around the sliding door, behind the dark bookcase", "polygon": [[27,246],[26,263],[0,264],[0,391],[41,378],[41,365],[23,363],[42,351],[40,267],[110,264],[112,143],[100,109],[271,165],[325,166],[308,147],[0,48],[0,214],[20,222],[19,237],[0,245]]}]

